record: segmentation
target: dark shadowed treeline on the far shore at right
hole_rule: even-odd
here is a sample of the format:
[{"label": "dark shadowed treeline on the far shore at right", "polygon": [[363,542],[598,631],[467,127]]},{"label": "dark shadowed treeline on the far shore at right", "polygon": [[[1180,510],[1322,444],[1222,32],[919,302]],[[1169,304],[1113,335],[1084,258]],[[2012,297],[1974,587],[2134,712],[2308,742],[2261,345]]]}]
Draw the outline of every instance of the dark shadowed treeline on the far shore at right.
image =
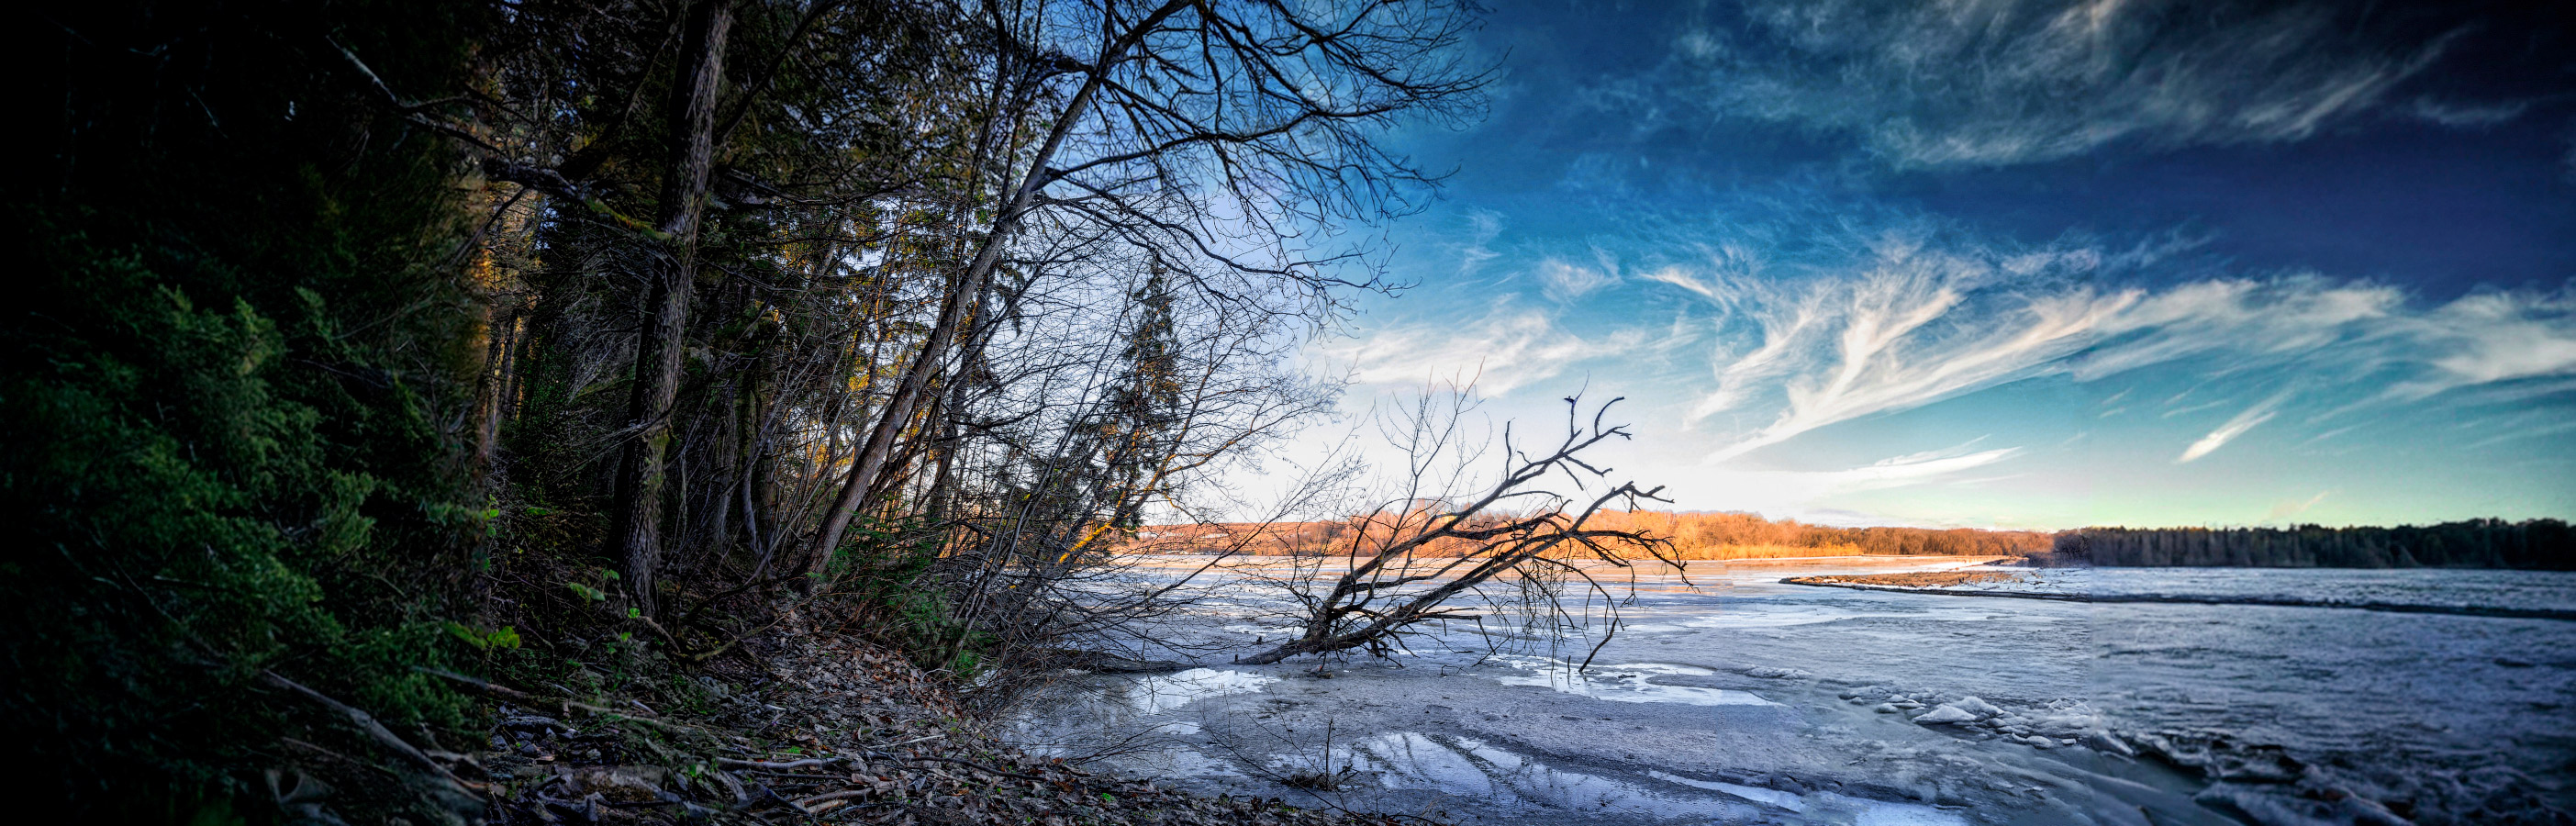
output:
[{"label": "dark shadowed treeline on the far shore at right", "polygon": [[2081,528],[2053,556],[2097,566],[2269,569],[2576,569],[2561,520],[2465,520],[2398,528]]}]

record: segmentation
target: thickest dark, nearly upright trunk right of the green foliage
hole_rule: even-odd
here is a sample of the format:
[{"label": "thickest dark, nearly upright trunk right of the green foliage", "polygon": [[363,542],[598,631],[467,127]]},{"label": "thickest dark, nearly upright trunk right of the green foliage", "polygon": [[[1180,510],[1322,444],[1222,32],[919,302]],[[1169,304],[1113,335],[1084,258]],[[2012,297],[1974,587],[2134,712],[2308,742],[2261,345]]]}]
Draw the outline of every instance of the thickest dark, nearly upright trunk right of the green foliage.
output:
[{"label": "thickest dark, nearly upright trunk right of the green foliage", "polygon": [[670,165],[662,175],[657,226],[667,244],[654,257],[636,340],[634,396],[626,404],[631,440],[618,461],[616,543],[618,569],[636,607],[654,612],[654,574],[662,566],[662,481],[670,453],[670,409],[680,394],[688,353],[688,296],[696,291],[698,219],[706,178],[716,165],[716,90],[724,80],[724,41],[734,28],[729,0],[698,0],[688,10],[680,75],[672,80]]}]

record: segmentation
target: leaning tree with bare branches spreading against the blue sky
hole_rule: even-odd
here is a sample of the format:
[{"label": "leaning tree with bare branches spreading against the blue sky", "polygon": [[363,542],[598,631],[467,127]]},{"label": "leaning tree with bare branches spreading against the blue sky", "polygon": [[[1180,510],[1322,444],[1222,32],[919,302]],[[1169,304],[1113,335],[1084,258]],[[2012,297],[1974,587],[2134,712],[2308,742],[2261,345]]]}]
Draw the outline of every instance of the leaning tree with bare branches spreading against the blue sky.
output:
[{"label": "leaning tree with bare branches spreading against the blue sky", "polygon": [[1340,234],[1412,211],[1432,183],[1383,131],[1461,118],[1489,80],[1461,51],[1466,3],[997,0],[969,13],[963,39],[989,54],[979,185],[938,311],[806,543],[814,574],[896,491],[904,443],[938,427],[938,389],[984,360],[989,332],[1018,324],[1046,278],[1131,257],[1164,273],[1177,304],[1231,324],[1321,322],[1337,288],[1378,286],[1365,244]]}]

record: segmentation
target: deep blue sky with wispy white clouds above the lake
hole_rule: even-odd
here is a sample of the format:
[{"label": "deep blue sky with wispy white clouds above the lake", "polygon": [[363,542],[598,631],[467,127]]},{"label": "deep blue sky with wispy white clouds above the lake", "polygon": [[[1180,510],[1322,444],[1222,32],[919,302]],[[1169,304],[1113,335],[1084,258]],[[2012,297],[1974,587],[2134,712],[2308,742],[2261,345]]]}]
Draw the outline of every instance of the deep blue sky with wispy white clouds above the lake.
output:
[{"label": "deep blue sky with wispy white clouds above the lake", "polygon": [[1502,0],[1309,347],[1680,509],[2576,517],[2576,23],[2476,3]]}]

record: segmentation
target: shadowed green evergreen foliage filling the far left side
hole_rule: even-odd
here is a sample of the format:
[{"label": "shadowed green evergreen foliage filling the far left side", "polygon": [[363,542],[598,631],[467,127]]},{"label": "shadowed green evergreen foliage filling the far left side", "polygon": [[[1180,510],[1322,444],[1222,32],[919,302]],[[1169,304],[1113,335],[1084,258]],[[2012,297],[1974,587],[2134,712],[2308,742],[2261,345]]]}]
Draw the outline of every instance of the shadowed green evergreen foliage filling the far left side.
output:
[{"label": "shadowed green evergreen foliage filling the far left side", "polygon": [[227,800],[327,718],[263,672],[404,731],[466,720],[412,669],[474,651],[446,623],[482,522],[438,517],[484,509],[438,425],[479,363],[440,265],[456,157],[325,49],[453,75],[453,13],[93,3],[18,33],[64,111],[0,206],[8,787],[265,818]]}]

